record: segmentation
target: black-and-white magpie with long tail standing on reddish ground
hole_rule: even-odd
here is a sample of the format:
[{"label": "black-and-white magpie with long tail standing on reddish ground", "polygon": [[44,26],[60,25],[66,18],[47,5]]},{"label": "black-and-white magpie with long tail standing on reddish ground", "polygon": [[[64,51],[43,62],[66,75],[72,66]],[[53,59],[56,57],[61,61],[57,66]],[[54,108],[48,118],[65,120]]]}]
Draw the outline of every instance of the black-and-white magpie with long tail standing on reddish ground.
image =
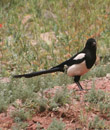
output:
[{"label": "black-and-white magpie with long tail standing on reddish ground", "polygon": [[80,91],[84,90],[80,84],[80,77],[87,73],[96,61],[97,43],[94,38],[89,38],[86,41],[84,48],[76,53],[68,60],[56,65],[47,70],[41,70],[38,72],[32,72],[28,74],[14,75],[14,78],[31,78],[34,76],[54,73],[54,72],[65,72],[70,77],[74,78],[74,82],[77,84]]}]

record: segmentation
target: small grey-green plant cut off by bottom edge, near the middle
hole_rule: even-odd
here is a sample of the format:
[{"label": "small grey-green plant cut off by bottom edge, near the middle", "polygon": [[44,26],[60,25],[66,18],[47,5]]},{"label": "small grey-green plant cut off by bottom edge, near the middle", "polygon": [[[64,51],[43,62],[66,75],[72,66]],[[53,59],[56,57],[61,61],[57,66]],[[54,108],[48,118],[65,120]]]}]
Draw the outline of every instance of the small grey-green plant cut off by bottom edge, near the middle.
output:
[{"label": "small grey-green plant cut off by bottom edge, near the middle", "polygon": [[53,119],[47,130],[64,130],[65,124],[61,120]]}]

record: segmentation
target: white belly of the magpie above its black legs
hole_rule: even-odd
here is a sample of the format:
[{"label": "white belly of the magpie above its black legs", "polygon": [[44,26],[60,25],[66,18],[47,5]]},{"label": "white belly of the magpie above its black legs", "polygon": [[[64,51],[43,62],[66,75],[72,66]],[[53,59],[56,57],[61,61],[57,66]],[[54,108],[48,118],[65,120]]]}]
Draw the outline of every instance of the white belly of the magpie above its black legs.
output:
[{"label": "white belly of the magpie above its black legs", "polygon": [[71,77],[80,76],[87,73],[88,71],[89,69],[87,69],[86,63],[84,61],[80,64],[75,64],[75,65],[70,66],[67,70],[67,75]]}]

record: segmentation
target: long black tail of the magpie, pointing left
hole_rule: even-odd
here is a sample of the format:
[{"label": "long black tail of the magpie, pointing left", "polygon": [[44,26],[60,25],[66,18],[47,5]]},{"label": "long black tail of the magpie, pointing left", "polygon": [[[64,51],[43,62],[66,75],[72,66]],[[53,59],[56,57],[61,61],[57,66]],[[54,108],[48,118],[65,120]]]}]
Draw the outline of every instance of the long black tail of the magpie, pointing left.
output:
[{"label": "long black tail of the magpie, pointing left", "polygon": [[22,78],[22,77],[31,78],[31,77],[34,77],[34,76],[47,74],[47,73],[58,72],[58,71],[62,72],[62,70],[60,68],[56,67],[56,68],[51,68],[49,70],[42,70],[42,71],[38,71],[38,72],[32,72],[32,73],[29,73],[29,74],[14,75],[13,78]]}]

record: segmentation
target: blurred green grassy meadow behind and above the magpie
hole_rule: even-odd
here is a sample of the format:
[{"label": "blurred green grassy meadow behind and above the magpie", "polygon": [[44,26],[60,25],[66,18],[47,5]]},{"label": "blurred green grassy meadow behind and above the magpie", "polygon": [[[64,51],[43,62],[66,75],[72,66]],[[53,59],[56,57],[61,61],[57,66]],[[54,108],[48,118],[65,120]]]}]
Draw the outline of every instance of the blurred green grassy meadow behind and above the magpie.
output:
[{"label": "blurred green grassy meadow behind and above the magpie", "polygon": [[[69,58],[67,53],[73,55],[83,48],[87,38],[92,36],[98,42],[98,55],[109,55],[108,0],[6,0],[2,3],[2,76],[59,64]],[[41,38],[46,32],[54,33],[51,44]]]}]

